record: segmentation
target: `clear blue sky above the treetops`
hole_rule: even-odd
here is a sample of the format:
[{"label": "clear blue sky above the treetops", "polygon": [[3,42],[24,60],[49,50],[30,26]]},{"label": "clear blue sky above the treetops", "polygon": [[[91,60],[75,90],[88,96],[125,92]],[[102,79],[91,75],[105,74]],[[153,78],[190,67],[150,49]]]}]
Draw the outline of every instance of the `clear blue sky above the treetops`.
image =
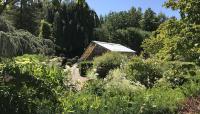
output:
[{"label": "clear blue sky above the treetops", "polygon": [[94,9],[98,15],[105,15],[111,11],[129,10],[132,6],[141,7],[144,11],[151,8],[156,13],[164,13],[167,16],[180,17],[178,11],[172,11],[162,7],[166,0],[86,0],[89,6]]}]

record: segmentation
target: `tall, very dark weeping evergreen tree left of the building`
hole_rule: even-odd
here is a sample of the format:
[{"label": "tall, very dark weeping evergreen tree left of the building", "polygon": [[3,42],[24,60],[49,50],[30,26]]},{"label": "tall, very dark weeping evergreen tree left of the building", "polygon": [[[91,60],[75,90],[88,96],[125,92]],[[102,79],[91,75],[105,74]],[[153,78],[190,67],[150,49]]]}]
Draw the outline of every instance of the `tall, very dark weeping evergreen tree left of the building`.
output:
[{"label": "tall, very dark weeping evergreen tree left of the building", "polygon": [[93,40],[94,28],[99,19],[85,0],[63,3],[53,0],[46,11],[46,20],[53,25],[58,53],[80,55]]}]

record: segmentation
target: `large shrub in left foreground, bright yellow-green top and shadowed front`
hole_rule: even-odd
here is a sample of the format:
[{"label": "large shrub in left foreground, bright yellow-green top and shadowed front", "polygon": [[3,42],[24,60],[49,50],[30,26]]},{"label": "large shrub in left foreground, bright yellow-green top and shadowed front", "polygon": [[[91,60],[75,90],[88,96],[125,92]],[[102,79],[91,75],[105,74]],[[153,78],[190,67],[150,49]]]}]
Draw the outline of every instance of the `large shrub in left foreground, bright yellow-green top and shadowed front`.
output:
[{"label": "large shrub in left foreground, bright yellow-green top and shadowed front", "polygon": [[[60,97],[66,91],[67,73],[48,66],[44,56],[14,58],[0,68],[0,112],[61,113]],[[9,102],[8,102],[9,101]]]}]

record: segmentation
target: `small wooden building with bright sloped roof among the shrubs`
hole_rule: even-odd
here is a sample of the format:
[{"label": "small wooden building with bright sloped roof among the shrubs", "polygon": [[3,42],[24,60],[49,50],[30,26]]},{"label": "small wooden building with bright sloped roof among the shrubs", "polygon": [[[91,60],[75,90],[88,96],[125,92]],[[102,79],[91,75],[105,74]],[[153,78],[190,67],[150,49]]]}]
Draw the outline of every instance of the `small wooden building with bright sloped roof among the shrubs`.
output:
[{"label": "small wooden building with bright sloped roof among the shrubs", "polygon": [[86,48],[80,60],[92,60],[94,57],[100,56],[106,52],[119,52],[130,55],[135,55],[136,53],[134,50],[127,48],[121,44],[92,41]]}]

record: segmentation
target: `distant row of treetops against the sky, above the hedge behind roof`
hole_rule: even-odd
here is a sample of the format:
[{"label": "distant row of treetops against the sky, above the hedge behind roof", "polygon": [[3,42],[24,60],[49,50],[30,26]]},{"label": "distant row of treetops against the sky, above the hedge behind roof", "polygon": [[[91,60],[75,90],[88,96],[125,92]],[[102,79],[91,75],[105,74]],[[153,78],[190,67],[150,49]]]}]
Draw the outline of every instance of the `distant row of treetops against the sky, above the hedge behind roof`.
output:
[{"label": "distant row of treetops against the sky, above the hedge behind roof", "polygon": [[146,31],[155,31],[168,18],[163,13],[156,14],[151,8],[142,13],[141,8],[132,7],[128,11],[111,12],[104,17],[102,27],[113,32],[128,27],[141,28]]}]

